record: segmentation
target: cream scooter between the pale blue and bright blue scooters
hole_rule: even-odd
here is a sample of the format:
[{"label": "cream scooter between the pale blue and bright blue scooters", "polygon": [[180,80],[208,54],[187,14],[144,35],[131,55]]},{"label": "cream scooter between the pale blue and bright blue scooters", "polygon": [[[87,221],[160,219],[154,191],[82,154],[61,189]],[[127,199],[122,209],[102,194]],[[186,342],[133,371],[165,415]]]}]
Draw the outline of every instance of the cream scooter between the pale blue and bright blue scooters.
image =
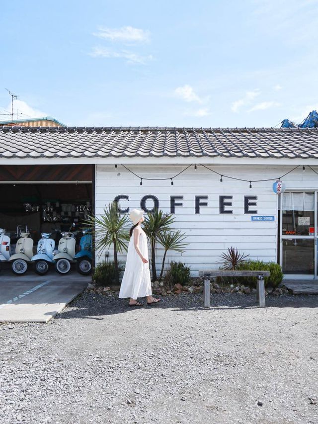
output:
[{"label": "cream scooter between the pale blue and bright blue scooters", "polygon": [[71,262],[75,256],[75,237],[78,233],[63,232],[59,241],[58,253],[54,255],[55,270],[59,274],[67,274],[71,270]]}]

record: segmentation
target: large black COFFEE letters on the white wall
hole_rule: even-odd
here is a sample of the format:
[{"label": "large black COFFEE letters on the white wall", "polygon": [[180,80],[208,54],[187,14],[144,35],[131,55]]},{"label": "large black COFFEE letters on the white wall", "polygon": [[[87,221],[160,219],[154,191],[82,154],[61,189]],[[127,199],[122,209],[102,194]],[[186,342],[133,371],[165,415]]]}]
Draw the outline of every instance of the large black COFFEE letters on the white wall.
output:
[{"label": "large black COFFEE letters on the white wall", "polygon": [[[129,196],[126,194],[119,194],[114,199],[116,202],[120,200],[129,201]],[[152,200],[154,206],[152,209],[146,207],[147,200]],[[170,213],[175,214],[176,207],[182,207],[183,196],[170,196]],[[201,208],[208,206],[209,196],[194,196],[194,213],[200,214]],[[257,215],[256,203],[257,196],[244,196],[244,214]],[[219,212],[220,214],[233,214],[233,196],[219,196]],[[146,213],[153,212],[154,209],[159,208],[159,199],[153,194],[147,194],[140,201],[140,207]],[[119,208],[120,213],[128,213],[129,207]]]}]

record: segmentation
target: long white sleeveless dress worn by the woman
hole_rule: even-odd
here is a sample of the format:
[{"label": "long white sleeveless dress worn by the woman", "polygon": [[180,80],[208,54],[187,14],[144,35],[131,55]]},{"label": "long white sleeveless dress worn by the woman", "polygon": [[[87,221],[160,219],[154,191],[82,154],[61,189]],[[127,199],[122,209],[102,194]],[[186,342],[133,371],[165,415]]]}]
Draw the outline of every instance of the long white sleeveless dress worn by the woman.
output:
[{"label": "long white sleeveless dress worn by the woman", "polygon": [[[135,229],[134,229],[135,231]],[[141,254],[149,260],[146,233],[142,230],[139,236],[139,249]],[[149,263],[144,263],[135,249],[134,232],[130,238],[124,276],[121,282],[119,297],[151,296],[151,278]]]}]

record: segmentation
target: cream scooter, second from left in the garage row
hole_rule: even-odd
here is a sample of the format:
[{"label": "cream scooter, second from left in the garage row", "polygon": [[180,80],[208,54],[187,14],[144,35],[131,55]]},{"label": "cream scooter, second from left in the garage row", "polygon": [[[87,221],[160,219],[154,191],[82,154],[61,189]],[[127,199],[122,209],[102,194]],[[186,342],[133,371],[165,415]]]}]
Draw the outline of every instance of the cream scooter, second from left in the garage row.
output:
[{"label": "cream scooter, second from left in the garage row", "polygon": [[11,270],[14,274],[22,275],[28,269],[28,263],[31,262],[33,257],[33,240],[29,238],[28,228],[25,228],[25,233],[21,232],[20,238],[15,246],[15,254],[10,256],[9,261],[12,262]]}]

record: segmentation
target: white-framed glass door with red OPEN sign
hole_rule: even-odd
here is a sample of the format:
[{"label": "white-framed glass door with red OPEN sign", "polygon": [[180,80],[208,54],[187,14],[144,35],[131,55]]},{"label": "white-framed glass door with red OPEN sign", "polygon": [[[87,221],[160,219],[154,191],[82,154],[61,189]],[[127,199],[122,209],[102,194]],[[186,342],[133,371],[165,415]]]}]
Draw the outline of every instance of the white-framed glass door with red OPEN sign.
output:
[{"label": "white-framed glass door with red OPEN sign", "polygon": [[317,192],[289,191],[281,196],[283,272],[287,277],[317,278]]}]

